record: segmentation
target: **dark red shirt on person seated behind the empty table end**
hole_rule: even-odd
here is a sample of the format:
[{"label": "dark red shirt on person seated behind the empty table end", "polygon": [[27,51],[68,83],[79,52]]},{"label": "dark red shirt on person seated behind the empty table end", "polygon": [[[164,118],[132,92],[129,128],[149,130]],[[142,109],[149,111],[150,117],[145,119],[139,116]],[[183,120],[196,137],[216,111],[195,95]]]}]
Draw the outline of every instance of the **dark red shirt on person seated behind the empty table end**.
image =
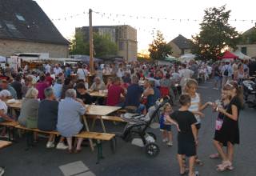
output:
[{"label": "dark red shirt on person seated behind the empty table end", "polygon": [[118,85],[111,85],[108,89],[107,98],[106,98],[106,105],[107,106],[117,106],[120,102],[121,94],[125,92],[124,89],[122,89],[122,86]]}]

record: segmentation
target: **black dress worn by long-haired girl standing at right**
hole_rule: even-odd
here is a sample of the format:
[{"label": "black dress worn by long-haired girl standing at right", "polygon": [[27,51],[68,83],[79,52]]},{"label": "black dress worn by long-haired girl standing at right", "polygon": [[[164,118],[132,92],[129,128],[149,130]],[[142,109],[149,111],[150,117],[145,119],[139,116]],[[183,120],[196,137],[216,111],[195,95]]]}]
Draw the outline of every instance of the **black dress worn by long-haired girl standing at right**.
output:
[{"label": "black dress worn by long-haired girl standing at right", "polygon": [[[232,105],[237,106],[239,117],[241,102],[238,97],[232,98],[230,104],[227,106],[226,112],[229,114],[231,114],[232,112]],[[239,144],[240,138],[238,120],[234,121],[233,119],[228,118],[224,115],[222,128],[219,130],[218,134],[218,142],[222,142],[223,146],[227,146],[227,142],[231,142],[232,144]]]}]

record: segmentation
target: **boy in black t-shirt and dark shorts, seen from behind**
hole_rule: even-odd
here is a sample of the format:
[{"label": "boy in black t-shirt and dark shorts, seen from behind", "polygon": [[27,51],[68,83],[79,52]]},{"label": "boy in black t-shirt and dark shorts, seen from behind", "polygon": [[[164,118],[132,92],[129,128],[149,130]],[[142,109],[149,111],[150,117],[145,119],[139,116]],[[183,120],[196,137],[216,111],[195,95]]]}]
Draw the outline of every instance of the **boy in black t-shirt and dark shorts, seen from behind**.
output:
[{"label": "boy in black t-shirt and dark shorts, seen from behind", "polygon": [[180,174],[186,174],[186,166],[183,165],[183,158],[189,157],[189,176],[195,176],[194,162],[196,157],[196,146],[198,145],[196,118],[194,114],[189,111],[191,105],[191,98],[188,94],[182,94],[179,98],[182,105],[179,110],[170,114],[170,118],[178,122],[180,131],[178,132],[178,165],[180,167]]}]

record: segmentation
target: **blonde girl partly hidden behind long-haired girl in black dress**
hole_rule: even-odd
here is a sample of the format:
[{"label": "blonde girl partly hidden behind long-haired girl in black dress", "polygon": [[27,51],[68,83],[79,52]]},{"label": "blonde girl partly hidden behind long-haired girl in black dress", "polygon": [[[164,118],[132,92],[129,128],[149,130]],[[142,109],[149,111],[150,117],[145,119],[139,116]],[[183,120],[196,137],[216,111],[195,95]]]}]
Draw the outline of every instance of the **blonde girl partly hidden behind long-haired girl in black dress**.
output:
[{"label": "blonde girl partly hidden behind long-haired girl in black dress", "polygon": [[[218,106],[222,106],[223,109],[226,110],[227,106],[229,105],[231,100],[231,96],[228,93],[228,90],[222,90],[222,100],[221,100],[221,105],[218,105],[218,103],[214,102],[213,103],[213,108],[214,110],[217,110]],[[223,118],[224,114],[218,113],[218,118],[216,119],[216,125],[215,125],[215,134],[214,134],[214,146],[216,146],[216,143],[218,143],[219,138],[220,138],[220,130],[222,128],[222,123],[223,123]],[[219,154],[210,154],[211,159],[219,158]]]}]

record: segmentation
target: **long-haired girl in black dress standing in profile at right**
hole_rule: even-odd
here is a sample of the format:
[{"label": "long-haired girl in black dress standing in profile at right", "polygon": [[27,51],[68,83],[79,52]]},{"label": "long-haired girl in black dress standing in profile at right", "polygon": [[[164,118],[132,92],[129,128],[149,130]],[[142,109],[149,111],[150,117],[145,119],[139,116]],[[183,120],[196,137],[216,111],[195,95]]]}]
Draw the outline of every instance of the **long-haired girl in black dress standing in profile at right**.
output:
[{"label": "long-haired girl in black dress standing in profile at right", "polygon": [[[234,144],[239,144],[238,117],[242,107],[242,90],[239,88],[238,83],[229,82],[223,89],[229,90],[231,100],[226,110],[222,107],[218,107],[217,110],[224,114],[222,127],[218,134],[218,143],[215,145],[222,157],[222,164],[217,167],[218,171],[233,169]],[[227,153],[222,149],[222,145],[227,146]]]}]

